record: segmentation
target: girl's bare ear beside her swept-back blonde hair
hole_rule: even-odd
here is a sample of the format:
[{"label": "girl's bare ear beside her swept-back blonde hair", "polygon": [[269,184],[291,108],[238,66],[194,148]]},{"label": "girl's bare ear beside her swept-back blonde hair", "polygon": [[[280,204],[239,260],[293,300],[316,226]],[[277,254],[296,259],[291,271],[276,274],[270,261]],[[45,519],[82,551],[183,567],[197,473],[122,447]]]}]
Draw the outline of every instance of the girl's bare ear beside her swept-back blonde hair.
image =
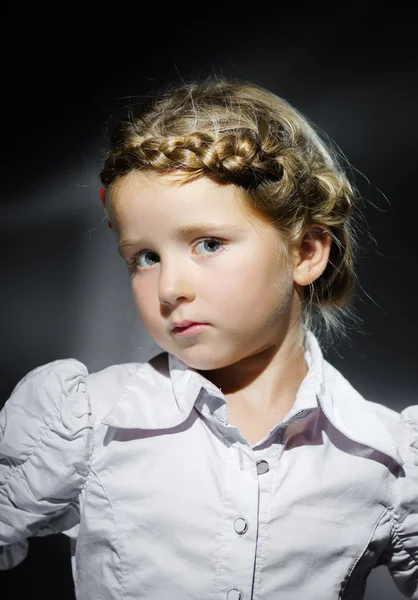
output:
[{"label": "girl's bare ear beside her swept-back blonde hair", "polygon": [[309,285],[325,271],[331,250],[330,230],[313,225],[305,230],[293,250],[293,281],[298,285]]}]

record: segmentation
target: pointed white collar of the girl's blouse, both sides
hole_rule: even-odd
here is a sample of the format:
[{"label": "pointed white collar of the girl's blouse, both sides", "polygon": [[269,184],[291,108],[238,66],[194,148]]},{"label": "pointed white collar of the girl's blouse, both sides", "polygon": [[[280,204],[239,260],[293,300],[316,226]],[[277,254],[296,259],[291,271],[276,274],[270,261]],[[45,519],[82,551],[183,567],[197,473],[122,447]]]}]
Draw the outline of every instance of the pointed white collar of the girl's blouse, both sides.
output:
[{"label": "pointed white collar of the girl's blouse, both sides", "polygon": [[[308,372],[283,426],[320,406],[327,419],[346,437],[403,461],[395,440],[367,402],[322,354],[311,330],[305,331]],[[221,389],[168,353],[168,373],[139,363],[104,425],[119,428],[167,429],[183,423],[196,407],[209,417],[227,423],[227,399]]]}]

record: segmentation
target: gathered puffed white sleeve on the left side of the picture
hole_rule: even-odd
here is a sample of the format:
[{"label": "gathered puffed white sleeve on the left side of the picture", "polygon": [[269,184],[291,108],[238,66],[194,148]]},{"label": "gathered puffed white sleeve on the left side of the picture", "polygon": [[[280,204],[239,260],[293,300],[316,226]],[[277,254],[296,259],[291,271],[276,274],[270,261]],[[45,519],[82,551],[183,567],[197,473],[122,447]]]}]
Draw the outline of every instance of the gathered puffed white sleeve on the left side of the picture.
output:
[{"label": "gathered puffed white sleeve on the left side of the picture", "polygon": [[0,412],[0,570],[26,558],[28,537],[78,523],[93,450],[87,375],[73,358],[37,367]]}]

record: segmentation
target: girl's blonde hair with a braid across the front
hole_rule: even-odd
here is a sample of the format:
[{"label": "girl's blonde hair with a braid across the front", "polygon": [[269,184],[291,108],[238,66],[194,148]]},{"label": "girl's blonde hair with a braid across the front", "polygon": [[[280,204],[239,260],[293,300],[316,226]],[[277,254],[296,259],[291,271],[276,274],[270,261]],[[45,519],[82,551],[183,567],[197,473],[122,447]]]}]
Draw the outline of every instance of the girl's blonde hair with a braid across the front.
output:
[{"label": "girl's blonde hair with a braid across the front", "polygon": [[[333,243],[320,277],[298,289],[302,324],[327,344],[357,323],[354,254],[356,194],[314,127],[287,101],[236,79],[184,83],[130,106],[116,125],[100,173],[111,188],[131,171],[210,177],[246,190],[251,207],[290,248],[310,226]],[[109,215],[112,207],[107,203]],[[361,320],[361,319],[360,319]]]}]

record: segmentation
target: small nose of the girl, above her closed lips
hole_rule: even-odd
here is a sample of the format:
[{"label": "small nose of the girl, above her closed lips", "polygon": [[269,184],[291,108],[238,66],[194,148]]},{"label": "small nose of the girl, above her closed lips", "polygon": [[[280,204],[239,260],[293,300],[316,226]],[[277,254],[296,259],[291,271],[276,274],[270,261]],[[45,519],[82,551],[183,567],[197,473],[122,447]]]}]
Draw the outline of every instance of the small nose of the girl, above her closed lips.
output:
[{"label": "small nose of the girl, above her closed lips", "polygon": [[192,300],[195,296],[193,273],[190,264],[171,260],[160,264],[158,297],[161,304],[176,305],[179,300]]}]

